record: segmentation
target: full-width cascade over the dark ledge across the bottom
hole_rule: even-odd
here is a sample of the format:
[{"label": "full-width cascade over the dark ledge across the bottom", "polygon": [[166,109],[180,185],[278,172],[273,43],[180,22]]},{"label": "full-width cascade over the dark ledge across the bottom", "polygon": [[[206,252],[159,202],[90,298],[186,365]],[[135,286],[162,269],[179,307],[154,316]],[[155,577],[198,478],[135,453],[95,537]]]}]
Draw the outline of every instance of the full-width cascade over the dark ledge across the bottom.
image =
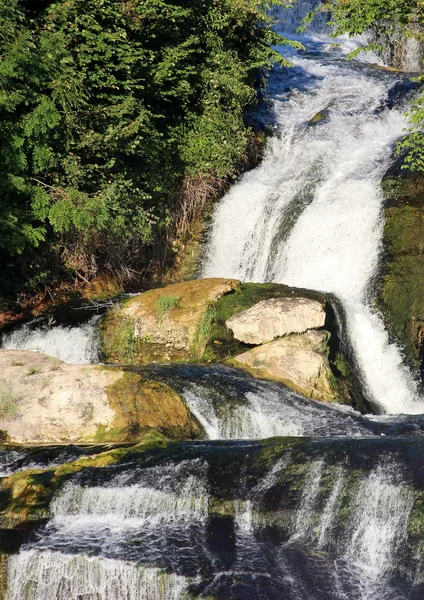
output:
[{"label": "full-width cascade over the dark ledge across the bottom", "polygon": [[8,600],[418,600],[423,450],[193,442],[76,475],[11,557]]}]

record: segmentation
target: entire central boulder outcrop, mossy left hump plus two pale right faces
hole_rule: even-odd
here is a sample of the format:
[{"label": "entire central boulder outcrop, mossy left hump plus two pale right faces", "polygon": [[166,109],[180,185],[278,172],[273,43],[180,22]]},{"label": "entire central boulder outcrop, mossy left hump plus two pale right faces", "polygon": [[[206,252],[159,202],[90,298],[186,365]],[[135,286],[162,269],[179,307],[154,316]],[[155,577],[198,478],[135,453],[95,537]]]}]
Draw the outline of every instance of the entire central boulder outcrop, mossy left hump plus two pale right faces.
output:
[{"label": "entire central boulder outcrop, mossy left hump plus two pale right faces", "polygon": [[[292,373],[291,365],[301,352],[298,342],[275,345],[281,356],[269,360],[277,361],[278,369],[275,364],[266,371],[253,369],[247,359],[238,366],[260,377],[282,380],[305,396],[367,410],[344,352],[335,303],[329,295],[281,284],[198,279],[170,285],[139,294],[107,313],[101,325],[104,358],[109,363],[139,365],[182,361],[235,364],[233,359],[252,345],[314,331],[315,337],[311,334],[304,340],[325,338],[326,342],[321,349],[319,342],[314,348],[310,344],[303,348],[309,356],[302,363],[306,369],[303,377]],[[327,333],[316,331],[324,326]],[[317,369],[321,369],[319,376]],[[323,378],[327,378],[326,385]]]}]

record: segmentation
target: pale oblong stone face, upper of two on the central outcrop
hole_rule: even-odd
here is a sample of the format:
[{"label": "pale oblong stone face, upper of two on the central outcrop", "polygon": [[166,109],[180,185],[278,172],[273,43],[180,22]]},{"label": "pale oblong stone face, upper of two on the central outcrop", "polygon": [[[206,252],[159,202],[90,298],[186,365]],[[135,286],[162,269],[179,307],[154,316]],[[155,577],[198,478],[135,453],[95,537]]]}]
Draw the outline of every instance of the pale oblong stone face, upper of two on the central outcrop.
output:
[{"label": "pale oblong stone face, upper of two on the central outcrop", "polygon": [[323,327],[325,310],[308,298],[270,298],[233,315],[226,325],[245,344],[265,344],[278,337]]}]

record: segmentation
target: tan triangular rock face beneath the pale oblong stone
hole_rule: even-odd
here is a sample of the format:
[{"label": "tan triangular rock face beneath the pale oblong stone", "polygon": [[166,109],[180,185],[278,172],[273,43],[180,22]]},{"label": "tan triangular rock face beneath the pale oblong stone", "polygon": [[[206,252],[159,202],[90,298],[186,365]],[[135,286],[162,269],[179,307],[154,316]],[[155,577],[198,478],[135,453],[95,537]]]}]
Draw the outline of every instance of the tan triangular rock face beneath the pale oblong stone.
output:
[{"label": "tan triangular rock face beneath the pale oblong stone", "polygon": [[234,357],[232,364],[257,377],[281,381],[308,398],[339,401],[331,385],[328,338],[323,330],[289,335]]}]

